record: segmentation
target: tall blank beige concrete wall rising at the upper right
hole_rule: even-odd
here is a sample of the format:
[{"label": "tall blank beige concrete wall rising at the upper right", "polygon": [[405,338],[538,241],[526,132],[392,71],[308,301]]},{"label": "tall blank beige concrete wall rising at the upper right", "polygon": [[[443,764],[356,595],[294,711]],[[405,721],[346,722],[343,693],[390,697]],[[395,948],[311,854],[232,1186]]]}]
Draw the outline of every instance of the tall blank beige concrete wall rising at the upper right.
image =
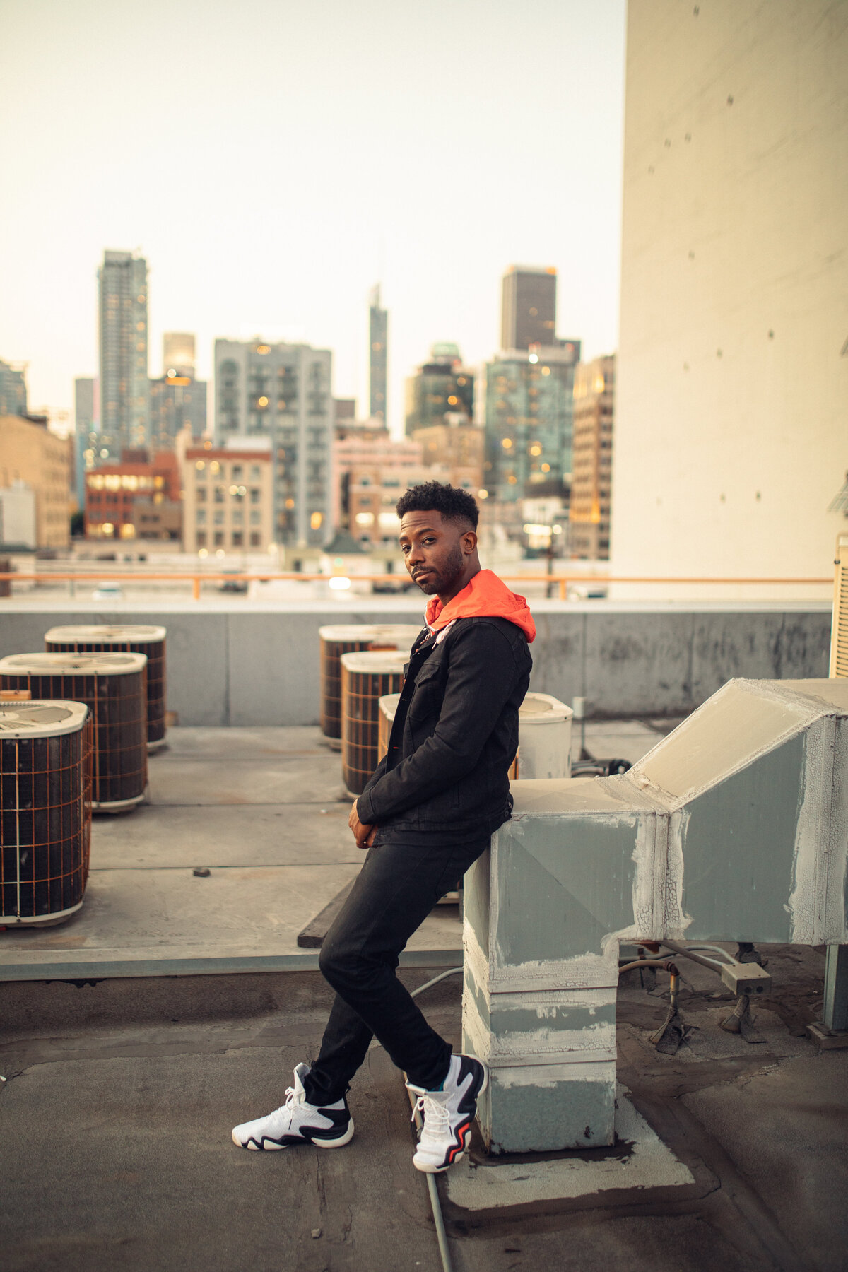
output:
[{"label": "tall blank beige concrete wall rising at the upper right", "polygon": [[847,229],[848,4],[631,0],[613,572],[831,572]]}]

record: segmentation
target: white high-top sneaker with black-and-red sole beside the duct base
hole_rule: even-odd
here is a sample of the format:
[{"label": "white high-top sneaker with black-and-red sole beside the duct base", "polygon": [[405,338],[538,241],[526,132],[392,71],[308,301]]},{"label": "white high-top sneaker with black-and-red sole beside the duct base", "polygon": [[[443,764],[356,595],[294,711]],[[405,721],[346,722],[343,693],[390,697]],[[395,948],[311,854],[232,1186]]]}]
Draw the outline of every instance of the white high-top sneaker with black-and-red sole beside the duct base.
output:
[{"label": "white high-top sneaker with black-and-red sole beside the duct base", "polygon": [[477,1113],[477,1096],[488,1085],[486,1065],[473,1056],[451,1056],[450,1068],[441,1091],[425,1091],[421,1086],[407,1086],[418,1099],[412,1113],[423,1114],[423,1127],[418,1140],[413,1166],[435,1175],[453,1166],[470,1144],[472,1122]]}]

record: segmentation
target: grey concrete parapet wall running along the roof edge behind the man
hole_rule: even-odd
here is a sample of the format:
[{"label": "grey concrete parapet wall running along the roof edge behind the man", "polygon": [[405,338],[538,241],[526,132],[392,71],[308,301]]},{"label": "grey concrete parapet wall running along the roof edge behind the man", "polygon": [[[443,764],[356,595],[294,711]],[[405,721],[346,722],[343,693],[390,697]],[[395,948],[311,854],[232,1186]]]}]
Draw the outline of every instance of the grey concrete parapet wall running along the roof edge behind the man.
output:
[{"label": "grey concrete parapet wall running along the roof edge behind the man", "polygon": [[[355,613],[332,605],[270,609],[92,605],[47,609],[0,602],[0,654],[44,647],[44,632],[79,622],[163,623],[168,628],[168,709],[183,725],[318,722],[318,628],[338,622],[416,622],[421,604]],[[615,602],[535,602],[530,688],[562,702],[580,696],[595,717],[685,715],[732,677],[826,677],[830,607],[727,604],[646,607]]]}]

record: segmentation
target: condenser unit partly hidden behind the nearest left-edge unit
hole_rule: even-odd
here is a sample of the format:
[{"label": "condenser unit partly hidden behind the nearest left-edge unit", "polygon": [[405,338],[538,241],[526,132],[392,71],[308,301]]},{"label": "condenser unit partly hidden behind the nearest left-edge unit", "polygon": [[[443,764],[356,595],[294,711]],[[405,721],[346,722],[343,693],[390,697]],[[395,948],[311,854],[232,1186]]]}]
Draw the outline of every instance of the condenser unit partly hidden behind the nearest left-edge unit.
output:
[{"label": "condenser unit partly hidden behind the nearest left-edge unit", "polygon": [[33,698],[84,702],[92,712],[92,806],[122,813],[147,786],[147,702],[144,654],[10,654],[0,688]]}]

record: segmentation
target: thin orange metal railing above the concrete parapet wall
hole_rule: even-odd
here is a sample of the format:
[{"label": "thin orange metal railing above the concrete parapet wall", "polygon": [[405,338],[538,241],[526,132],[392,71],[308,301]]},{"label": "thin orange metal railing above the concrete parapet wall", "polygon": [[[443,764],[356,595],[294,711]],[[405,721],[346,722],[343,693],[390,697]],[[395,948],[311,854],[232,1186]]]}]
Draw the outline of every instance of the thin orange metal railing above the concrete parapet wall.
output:
[{"label": "thin orange metal railing above the concrete parapet wall", "polygon": [[[533,583],[537,585],[553,585],[559,589],[559,599],[568,600],[568,588],[585,588],[585,586],[606,586],[610,583],[620,584],[650,584],[650,585],[704,585],[704,586],[726,586],[726,585],[739,585],[739,586],[833,586],[833,579],[737,579],[737,577],[653,577],[648,575],[587,575],[587,574],[510,574],[500,572],[505,583],[520,583],[528,584]],[[0,584],[4,583],[191,583],[192,595],[195,600],[200,600],[201,585],[203,583],[276,583],[276,581],[294,581],[294,583],[329,583],[331,579],[350,579],[351,584],[355,583],[381,583],[381,584],[406,584],[408,580],[399,574],[351,574],[346,575],[342,571],[338,574],[306,574],[300,571],[278,571],[278,570],[261,570],[261,571],[184,571],[173,570],[165,572],[151,572],[147,574],[145,570],[137,572],[109,570],[109,571],[81,571],[81,572],[29,572],[29,571],[13,571],[13,572],[0,572]],[[400,589],[398,589],[400,590]],[[582,597],[572,599],[584,599]]]}]

